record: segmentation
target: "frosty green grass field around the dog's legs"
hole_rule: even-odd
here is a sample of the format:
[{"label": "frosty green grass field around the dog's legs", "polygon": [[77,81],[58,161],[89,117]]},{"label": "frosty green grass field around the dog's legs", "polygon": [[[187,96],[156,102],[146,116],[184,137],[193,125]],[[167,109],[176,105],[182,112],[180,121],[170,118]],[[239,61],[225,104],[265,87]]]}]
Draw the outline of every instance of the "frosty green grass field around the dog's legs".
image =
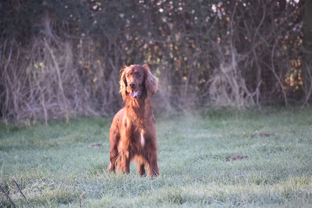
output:
[{"label": "frosty green grass field around the dog's legs", "polygon": [[[13,177],[30,207],[79,207],[88,190],[84,207],[312,206],[312,111],[225,111],[156,122],[160,176],[154,180],[139,177],[133,165],[130,175],[105,171],[111,117],[9,132],[2,125],[0,184],[20,207],[27,204]],[[248,158],[226,160],[237,154]]]}]

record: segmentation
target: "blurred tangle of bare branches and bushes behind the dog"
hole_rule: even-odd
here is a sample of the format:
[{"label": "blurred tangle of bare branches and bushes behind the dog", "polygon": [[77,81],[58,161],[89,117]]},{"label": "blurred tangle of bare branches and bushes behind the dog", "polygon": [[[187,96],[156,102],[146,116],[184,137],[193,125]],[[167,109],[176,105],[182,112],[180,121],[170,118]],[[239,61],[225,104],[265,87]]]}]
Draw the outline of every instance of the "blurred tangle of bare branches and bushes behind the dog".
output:
[{"label": "blurred tangle of bare branches and bushes behind the dog", "polygon": [[311,107],[310,0],[4,0],[0,117],[111,115],[148,64],[154,110]]}]

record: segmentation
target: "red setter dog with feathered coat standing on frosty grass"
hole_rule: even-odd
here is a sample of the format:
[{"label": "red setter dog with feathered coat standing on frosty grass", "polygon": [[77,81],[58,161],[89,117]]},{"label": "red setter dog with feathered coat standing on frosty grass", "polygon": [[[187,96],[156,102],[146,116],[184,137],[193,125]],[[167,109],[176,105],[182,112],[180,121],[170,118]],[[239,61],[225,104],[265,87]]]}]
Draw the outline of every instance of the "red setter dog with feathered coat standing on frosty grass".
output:
[{"label": "red setter dog with feathered coat standing on frosty grass", "polygon": [[120,78],[120,93],[125,107],[116,113],[110,126],[109,171],[117,168],[130,173],[130,161],[134,160],[140,176],[159,175],[157,166],[157,136],[155,119],[148,92],[152,95],[158,89],[147,65],[124,67]]}]

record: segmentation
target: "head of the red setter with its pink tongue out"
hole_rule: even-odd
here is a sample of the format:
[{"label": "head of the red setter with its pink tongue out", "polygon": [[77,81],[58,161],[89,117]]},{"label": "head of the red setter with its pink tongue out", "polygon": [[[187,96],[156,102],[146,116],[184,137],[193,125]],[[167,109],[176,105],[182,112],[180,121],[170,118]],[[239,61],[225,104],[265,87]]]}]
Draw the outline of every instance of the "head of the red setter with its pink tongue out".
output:
[{"label": "head of the red setter with its pink tongue out", "polygon": [[149,66],[144,64],[124,66],[120,78],[120,93],[122,98],[126,99],[129,95],[132,99],[138,99],[144,90],[147,90],[152,95],[158,89],[156,77],[151,73]]}]

